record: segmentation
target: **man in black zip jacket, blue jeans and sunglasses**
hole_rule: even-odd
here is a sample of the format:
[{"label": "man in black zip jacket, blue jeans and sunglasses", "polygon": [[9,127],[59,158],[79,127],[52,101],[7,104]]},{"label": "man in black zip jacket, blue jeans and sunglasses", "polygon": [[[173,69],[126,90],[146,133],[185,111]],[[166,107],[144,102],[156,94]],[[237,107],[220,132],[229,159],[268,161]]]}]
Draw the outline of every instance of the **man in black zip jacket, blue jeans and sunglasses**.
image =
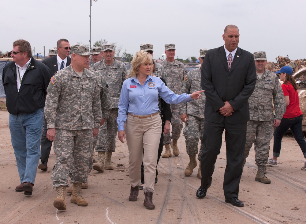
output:
[{"label": "man in black zip jacket, blue jeans and sunglasses", "polygon": [[2,73],[2,84],[9,112],[9,130],[21,184],[16,191],[32,195],[40,154],[43,111],[51,73],[32,57],[26,40],[13,43],[11,56]]}]

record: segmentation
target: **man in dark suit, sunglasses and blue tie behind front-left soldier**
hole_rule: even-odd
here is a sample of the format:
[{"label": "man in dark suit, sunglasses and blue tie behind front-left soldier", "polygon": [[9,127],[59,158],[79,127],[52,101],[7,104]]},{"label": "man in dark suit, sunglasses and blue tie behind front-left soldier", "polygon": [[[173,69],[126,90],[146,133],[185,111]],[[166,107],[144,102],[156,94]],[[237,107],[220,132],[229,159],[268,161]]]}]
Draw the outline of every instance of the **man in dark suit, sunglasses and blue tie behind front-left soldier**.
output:
[{"label": "man in dark suit, sunglasses and blue tie behind front-left soldier", "polygon": [[[51,71],[51,74],[54,75],[58,70],[61,70],[70,65],[71,59],[69,58],[70,55],[70,44],[69,41],[66,39],[60,39],[56,43],[58,53],[55,57],[49,57],[43,60],[43,63],[47,65]],[[50,150],[52,146],[52,141],[47,139],[47,125],[46,120],[44,118],[44,126],[43,126],[43,134],[40,140],[40,160],[41,163],[38,165],[38,169],[42,171],[48,170],[48,159],[50,155]]]}]

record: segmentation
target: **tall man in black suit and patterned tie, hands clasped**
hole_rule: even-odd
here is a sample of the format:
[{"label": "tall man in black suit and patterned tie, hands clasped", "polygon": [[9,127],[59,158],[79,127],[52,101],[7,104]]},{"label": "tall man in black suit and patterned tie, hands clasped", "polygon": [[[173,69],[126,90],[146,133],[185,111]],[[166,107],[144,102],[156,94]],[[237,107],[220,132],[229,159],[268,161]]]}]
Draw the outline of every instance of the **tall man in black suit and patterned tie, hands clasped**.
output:
[{"label": "tall man in black suit and patterned tie, hands clasped", "polygon": [[201,156],[201,186],[198,198],[206,196],[225,129],[226,169],[223,190],[227,203],[244,206],[238,199],[242,160],[249,120],[248,98],[256,85],[253,54],[238,46],[239,30],[235,25],[224,29],[224,46],[207,51],[201,85],[205,90],[205,123]]}]

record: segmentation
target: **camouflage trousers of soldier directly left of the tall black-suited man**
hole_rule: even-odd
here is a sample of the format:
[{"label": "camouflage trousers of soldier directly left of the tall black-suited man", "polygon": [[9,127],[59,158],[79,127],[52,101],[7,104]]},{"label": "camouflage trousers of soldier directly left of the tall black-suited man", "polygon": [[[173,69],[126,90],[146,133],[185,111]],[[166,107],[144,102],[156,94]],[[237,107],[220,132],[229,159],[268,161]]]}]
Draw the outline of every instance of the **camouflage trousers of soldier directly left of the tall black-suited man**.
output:
[{"label": "camouflage trousers of soldier directly left of the tall black-suited man", "polygon": [[192,156],[198,154],[199,139],[202,142],[204,118],[199,118],[190,114],[187,116],[188,121],[183,130],[183,134],[186,139],[185,142],[187,154]]}]

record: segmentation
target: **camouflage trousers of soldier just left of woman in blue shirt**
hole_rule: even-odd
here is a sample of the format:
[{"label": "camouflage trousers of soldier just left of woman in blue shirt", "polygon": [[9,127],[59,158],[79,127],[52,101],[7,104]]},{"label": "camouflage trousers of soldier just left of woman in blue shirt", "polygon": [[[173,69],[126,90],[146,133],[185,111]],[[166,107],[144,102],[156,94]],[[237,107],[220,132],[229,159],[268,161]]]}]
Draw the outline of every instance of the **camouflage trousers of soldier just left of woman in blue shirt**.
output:
[{"label": "camouflage trousers of soldier just left of woman in blue shirt", "polygon": [[113,108],[110,111],[108,119],[105,120],[103,126],[99,128],[98,140],[95,146],[95,151],[109,151],[116,150],[116,136],[118,132],[118,108]]}]

